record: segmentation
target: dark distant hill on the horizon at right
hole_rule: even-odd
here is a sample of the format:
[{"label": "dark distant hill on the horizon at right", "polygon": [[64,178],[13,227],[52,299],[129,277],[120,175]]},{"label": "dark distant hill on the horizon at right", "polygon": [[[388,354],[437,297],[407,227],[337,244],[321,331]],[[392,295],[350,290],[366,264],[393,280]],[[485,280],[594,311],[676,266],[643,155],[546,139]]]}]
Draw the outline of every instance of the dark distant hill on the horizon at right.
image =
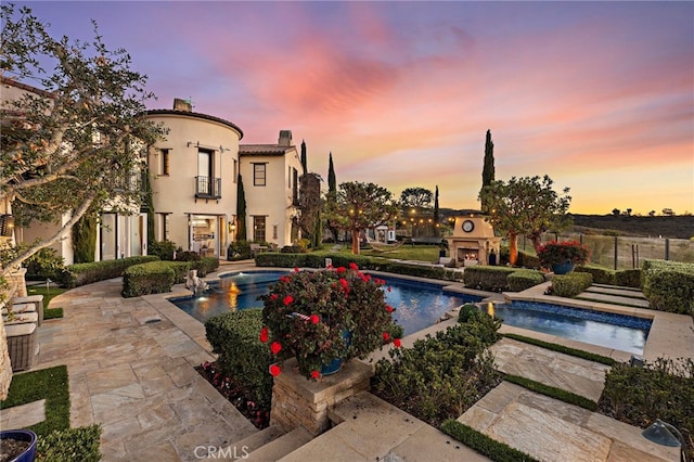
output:
[{"label": "dark distant hill on the horizon at right", "polygon": [[586,234],[617,234],[690,239],[694,216],[628,217],[624,215],[571,215],[574,231]]}]

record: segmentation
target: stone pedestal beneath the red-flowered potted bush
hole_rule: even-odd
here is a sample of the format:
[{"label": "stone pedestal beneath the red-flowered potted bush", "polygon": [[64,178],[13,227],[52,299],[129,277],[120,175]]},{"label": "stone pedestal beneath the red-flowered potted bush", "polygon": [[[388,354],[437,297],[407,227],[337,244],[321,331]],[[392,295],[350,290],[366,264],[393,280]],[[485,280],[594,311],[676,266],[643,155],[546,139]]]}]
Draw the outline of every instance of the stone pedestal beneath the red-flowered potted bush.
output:
[{"label": "stone pedestal beneath the red-flowered potted bush", "polygon": [[322,378],[309,381],[295,371],[296,360],[285,361],[283,373],[274,377],[270,423],[285,431],[304,426],[313,436],[330,428],[329,410],[359,392],[368,390],[373,365],[352,360],[343,369]]}]

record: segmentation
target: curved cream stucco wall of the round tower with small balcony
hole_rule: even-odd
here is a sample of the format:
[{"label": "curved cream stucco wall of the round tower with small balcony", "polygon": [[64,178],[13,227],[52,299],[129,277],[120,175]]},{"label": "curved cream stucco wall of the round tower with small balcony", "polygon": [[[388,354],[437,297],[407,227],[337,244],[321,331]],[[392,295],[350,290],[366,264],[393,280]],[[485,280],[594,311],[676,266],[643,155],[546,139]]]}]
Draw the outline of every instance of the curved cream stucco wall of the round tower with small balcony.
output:
[{"label": "curved cream stucco wall of the round tower with small balcony", "polygon": [[[155,240],[168,239],[187,251],[226,257],[228,224],[236,210],[234,161],[237,165],[242,132],[223,121],[184,111],[151,112],[147,117],[169,129],[167,139],[147,153]],[[218,197],[196,197],[201,150],[211,155],[210,178],[218,178],[221,187]]]}]

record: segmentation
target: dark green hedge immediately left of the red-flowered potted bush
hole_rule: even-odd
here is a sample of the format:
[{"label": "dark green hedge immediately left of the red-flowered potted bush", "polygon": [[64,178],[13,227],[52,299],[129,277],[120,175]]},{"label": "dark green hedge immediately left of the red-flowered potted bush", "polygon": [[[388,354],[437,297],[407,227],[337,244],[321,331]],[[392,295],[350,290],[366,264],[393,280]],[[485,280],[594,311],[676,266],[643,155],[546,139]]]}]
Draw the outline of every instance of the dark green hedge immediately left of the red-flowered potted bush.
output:
[{"label": "dark green hedge immediately left of the red-flowered potted bush", "polygon": [[207,341],[219,355],[217,365],[222,373],[242,381],[261,406],[270,406],[273,362],[267,345],[259,339],[262,309],[249,308],[215,316],[205,322]]}]

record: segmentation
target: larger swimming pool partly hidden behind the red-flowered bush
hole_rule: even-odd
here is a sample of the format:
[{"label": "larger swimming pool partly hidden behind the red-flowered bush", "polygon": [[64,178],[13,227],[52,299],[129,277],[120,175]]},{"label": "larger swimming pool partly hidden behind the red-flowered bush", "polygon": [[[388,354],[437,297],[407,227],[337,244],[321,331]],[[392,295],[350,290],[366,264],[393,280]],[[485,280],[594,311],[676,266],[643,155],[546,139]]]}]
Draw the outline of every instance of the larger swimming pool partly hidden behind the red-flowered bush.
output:
[{"label": "larger swimming pool partly hidden behind the red-flowered bush", "polygon": [[[268,285],[288,271],[239,272],[210,282],[210,290],[202,296],[169,298],[174,305],[205,322],[213,316],[236,309],[262,307],[259,295],[268,293]],[[440,284],[386,277],[386,303],[396,308],[394,319],[404,335],[436,323],[446,312],[466,303],[481,300],[480,296],[444,291]]]}]

